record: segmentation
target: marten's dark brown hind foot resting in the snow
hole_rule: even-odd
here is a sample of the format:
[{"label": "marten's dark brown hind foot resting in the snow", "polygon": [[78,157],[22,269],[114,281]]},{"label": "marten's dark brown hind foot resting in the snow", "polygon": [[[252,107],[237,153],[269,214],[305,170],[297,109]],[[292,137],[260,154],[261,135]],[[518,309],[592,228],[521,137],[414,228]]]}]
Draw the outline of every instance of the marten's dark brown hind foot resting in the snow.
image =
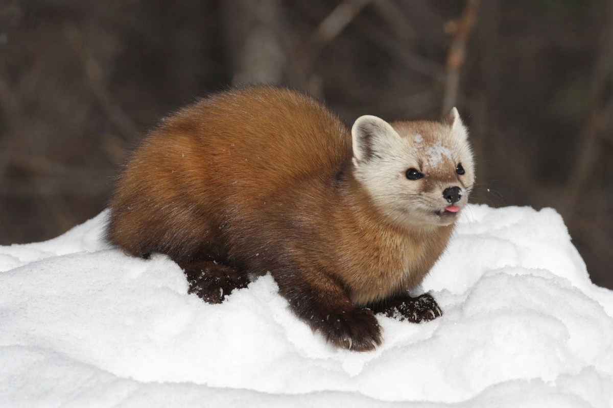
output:
[{"label": "marten's dark brown hind foot resting in the snow", "polygon": [[234,289],[247,287],[245,274],[213,261],[179,262],[188,278],[189,291],[208,303],[221,303]]}]

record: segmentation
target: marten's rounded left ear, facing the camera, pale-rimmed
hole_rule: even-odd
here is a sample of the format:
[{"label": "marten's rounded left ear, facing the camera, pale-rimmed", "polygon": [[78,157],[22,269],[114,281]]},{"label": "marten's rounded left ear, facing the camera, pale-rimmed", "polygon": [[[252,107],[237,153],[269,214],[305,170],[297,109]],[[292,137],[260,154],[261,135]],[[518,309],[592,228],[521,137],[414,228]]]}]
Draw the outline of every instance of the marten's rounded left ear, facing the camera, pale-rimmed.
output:
[{"label": "marten's rounded left ear, facing the camera, pale-rimmed", "polygon": [[392,125],[376,116],[360,116],[351,128],[354,161],[368,161],[390,141],[400,139]]}]

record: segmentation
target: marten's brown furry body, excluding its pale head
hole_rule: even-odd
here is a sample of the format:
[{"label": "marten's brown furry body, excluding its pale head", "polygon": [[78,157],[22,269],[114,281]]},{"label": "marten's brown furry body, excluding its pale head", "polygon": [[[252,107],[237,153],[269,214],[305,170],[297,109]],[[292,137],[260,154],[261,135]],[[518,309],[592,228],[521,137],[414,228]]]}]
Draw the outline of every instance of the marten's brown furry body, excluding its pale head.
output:
[{"label": "marten's brown furry body, excluding its pale head", "polygon": [[372,349],[381,330],[364,306],[411,305],[407,289],[438,259],[452,225],[390,223],[352,176],[351,158],[345,125],[305,95],[265,86],[213,95],[135,150],[110,201],[107,237],[135,256],[168,254],[208,302],[246,286],[247,273],[270,271],[314,330]]}]

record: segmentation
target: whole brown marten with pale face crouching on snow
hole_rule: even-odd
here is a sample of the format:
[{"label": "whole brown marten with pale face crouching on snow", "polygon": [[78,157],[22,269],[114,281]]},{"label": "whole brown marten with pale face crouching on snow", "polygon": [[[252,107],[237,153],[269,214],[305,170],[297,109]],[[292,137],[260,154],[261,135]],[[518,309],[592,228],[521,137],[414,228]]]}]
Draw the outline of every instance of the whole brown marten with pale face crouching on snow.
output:
[{"label": "whole brown marten with pale face crouching on snow", "polygon": [[307,95],[243,87],[148,133],[110,199],[107,239],[167,254],[210,303],[270,272],[314,331],[367,351],[381,344],[375,313],[441,315],[408,289],[444,250],[473,182],[455,108],[441,122],[362,116],[349,131]]}]

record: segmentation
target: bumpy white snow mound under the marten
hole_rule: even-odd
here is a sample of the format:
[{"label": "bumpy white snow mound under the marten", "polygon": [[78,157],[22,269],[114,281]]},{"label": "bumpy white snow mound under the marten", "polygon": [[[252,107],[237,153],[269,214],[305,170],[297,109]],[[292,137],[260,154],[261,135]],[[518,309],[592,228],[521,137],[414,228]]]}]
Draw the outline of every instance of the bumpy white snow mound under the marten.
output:
[{"label": "bumpy white snow mound under the marten", "polygon": [[221,305],[165,256],[101,241],[108,213],[0,247],[2,407],[612,407],[613,292],[552,209],[468,206],[423,283],[444,310],[334,349],[270,276]]}]

